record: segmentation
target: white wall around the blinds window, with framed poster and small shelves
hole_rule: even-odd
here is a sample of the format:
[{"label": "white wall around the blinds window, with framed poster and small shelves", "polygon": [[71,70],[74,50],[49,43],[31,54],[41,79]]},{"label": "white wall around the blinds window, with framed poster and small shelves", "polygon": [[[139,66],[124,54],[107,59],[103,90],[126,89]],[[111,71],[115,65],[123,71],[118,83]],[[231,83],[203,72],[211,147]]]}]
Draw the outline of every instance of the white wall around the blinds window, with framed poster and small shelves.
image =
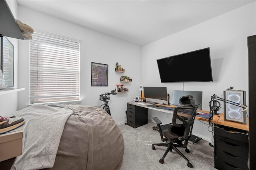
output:
[{"label": "white wall around the blinds window, with framed poster and small shelves", "polygon": [[[124,115],[128,101],[139,94],[141,84],[141,47],[128,43],[105,34],[18,6],[19,19],[40,30],[76,40],[80,40],[80,91],[81,105],[103,104],[99,95],[115,89],[120,83],[121,75],[132,78],[126,83],[129,92],[118,93],[110,96],[110,110],[116,123],[124,123]],[[108,64],[108,87],[91,87],[91,62]],[[114,71],[116,62],[125,70],[125,73]],[[19,92],[18,109],[23,109],[29,104],[29,41],[19,40],[19,87],[25,87]]]}]

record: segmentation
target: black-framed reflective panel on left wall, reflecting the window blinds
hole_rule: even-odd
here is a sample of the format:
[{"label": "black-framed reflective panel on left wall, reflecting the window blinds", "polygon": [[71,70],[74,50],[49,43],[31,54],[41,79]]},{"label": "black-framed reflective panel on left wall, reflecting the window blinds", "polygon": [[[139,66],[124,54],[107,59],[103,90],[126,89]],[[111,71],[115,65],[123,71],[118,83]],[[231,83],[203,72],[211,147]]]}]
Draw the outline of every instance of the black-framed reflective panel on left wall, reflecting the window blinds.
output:
[{"label": "black-framed reflective panel on left wall, reflecting the window blinds", "polygon": [[13,87],[14,75],[14,45],[6,37],[1,37],[1,62],[0,69],[4,75],[6,87]]}]

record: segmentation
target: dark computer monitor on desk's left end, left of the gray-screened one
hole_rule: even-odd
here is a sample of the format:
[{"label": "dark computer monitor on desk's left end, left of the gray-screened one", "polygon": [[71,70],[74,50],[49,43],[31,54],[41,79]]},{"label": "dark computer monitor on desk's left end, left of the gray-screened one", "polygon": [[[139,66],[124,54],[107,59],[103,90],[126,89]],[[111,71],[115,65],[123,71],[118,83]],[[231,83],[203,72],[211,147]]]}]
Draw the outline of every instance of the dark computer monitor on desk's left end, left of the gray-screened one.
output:
[{"label": "dark computer monitor on desk's left end, left of the gray-screened one", "polygon": [[151,99],[160,99],[167,101],[166,87],[144,87],[144,97]]}]

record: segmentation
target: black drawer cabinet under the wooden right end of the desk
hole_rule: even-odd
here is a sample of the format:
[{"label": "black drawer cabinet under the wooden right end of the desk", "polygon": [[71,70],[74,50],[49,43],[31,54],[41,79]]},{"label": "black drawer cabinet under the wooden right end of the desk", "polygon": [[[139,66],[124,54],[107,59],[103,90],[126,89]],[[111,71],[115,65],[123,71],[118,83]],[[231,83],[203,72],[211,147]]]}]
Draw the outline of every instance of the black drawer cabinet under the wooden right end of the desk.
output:
[{"label": "black drawer cabinet under the wooden right end of the desk", "polygon": [[214,167],[219,170],[248,170],[248,133],[218,125],[214,127]]}]

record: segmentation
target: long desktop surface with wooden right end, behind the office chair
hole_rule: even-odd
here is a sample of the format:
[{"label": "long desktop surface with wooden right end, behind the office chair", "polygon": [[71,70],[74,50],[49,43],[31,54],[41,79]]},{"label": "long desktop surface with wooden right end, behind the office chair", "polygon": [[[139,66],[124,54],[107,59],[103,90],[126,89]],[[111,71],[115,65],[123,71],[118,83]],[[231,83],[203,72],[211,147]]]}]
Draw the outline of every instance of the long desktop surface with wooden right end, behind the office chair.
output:
[{"label": "long desktop surface with wooden right end, behind the office chair", "polygon": [[[140,106],[140,107],[146,107],[148,109],[152,109],[152,110],[156,110],[156,111],[162,111],[162,112],[166,112],[166,113],[173,113],[172,111],[167,111],[165,109],[157,109],[157,108],[153,108],[153,107],[147,107],[147,105],[152,105],[152,104],[149,104],[149,103],[143,103],[145,105],[139,104],[140,102],[128,102],[128,103],[132,104],[132,105]],[[158,103],[156,105],[161,105],[161,104]],[[170,105],[170,106],[163,105],[163,106],[165,106],[165,107],[175,107],[173,105]],[[209,114],[209,111],[203,111],[203,110],[199,110],[199,109],[197,111]],[[200,121],[208,122],[208,119],[205,119],[205,118],[202,118],[202,117],[196,117],[196,119],[200,120]],[[224,114],[220,113],[219,115],[214,115],[213,116],[213,118],[211,120],[211,123],[226,126],[226,127],[232,127],[232,128],[237,128],[237,129],[249,131],[249,119],[248,119],[248,117],[246,118],[246,124],[242,124],[242,123],[233,122],[233,121],[224,121]]]}]

